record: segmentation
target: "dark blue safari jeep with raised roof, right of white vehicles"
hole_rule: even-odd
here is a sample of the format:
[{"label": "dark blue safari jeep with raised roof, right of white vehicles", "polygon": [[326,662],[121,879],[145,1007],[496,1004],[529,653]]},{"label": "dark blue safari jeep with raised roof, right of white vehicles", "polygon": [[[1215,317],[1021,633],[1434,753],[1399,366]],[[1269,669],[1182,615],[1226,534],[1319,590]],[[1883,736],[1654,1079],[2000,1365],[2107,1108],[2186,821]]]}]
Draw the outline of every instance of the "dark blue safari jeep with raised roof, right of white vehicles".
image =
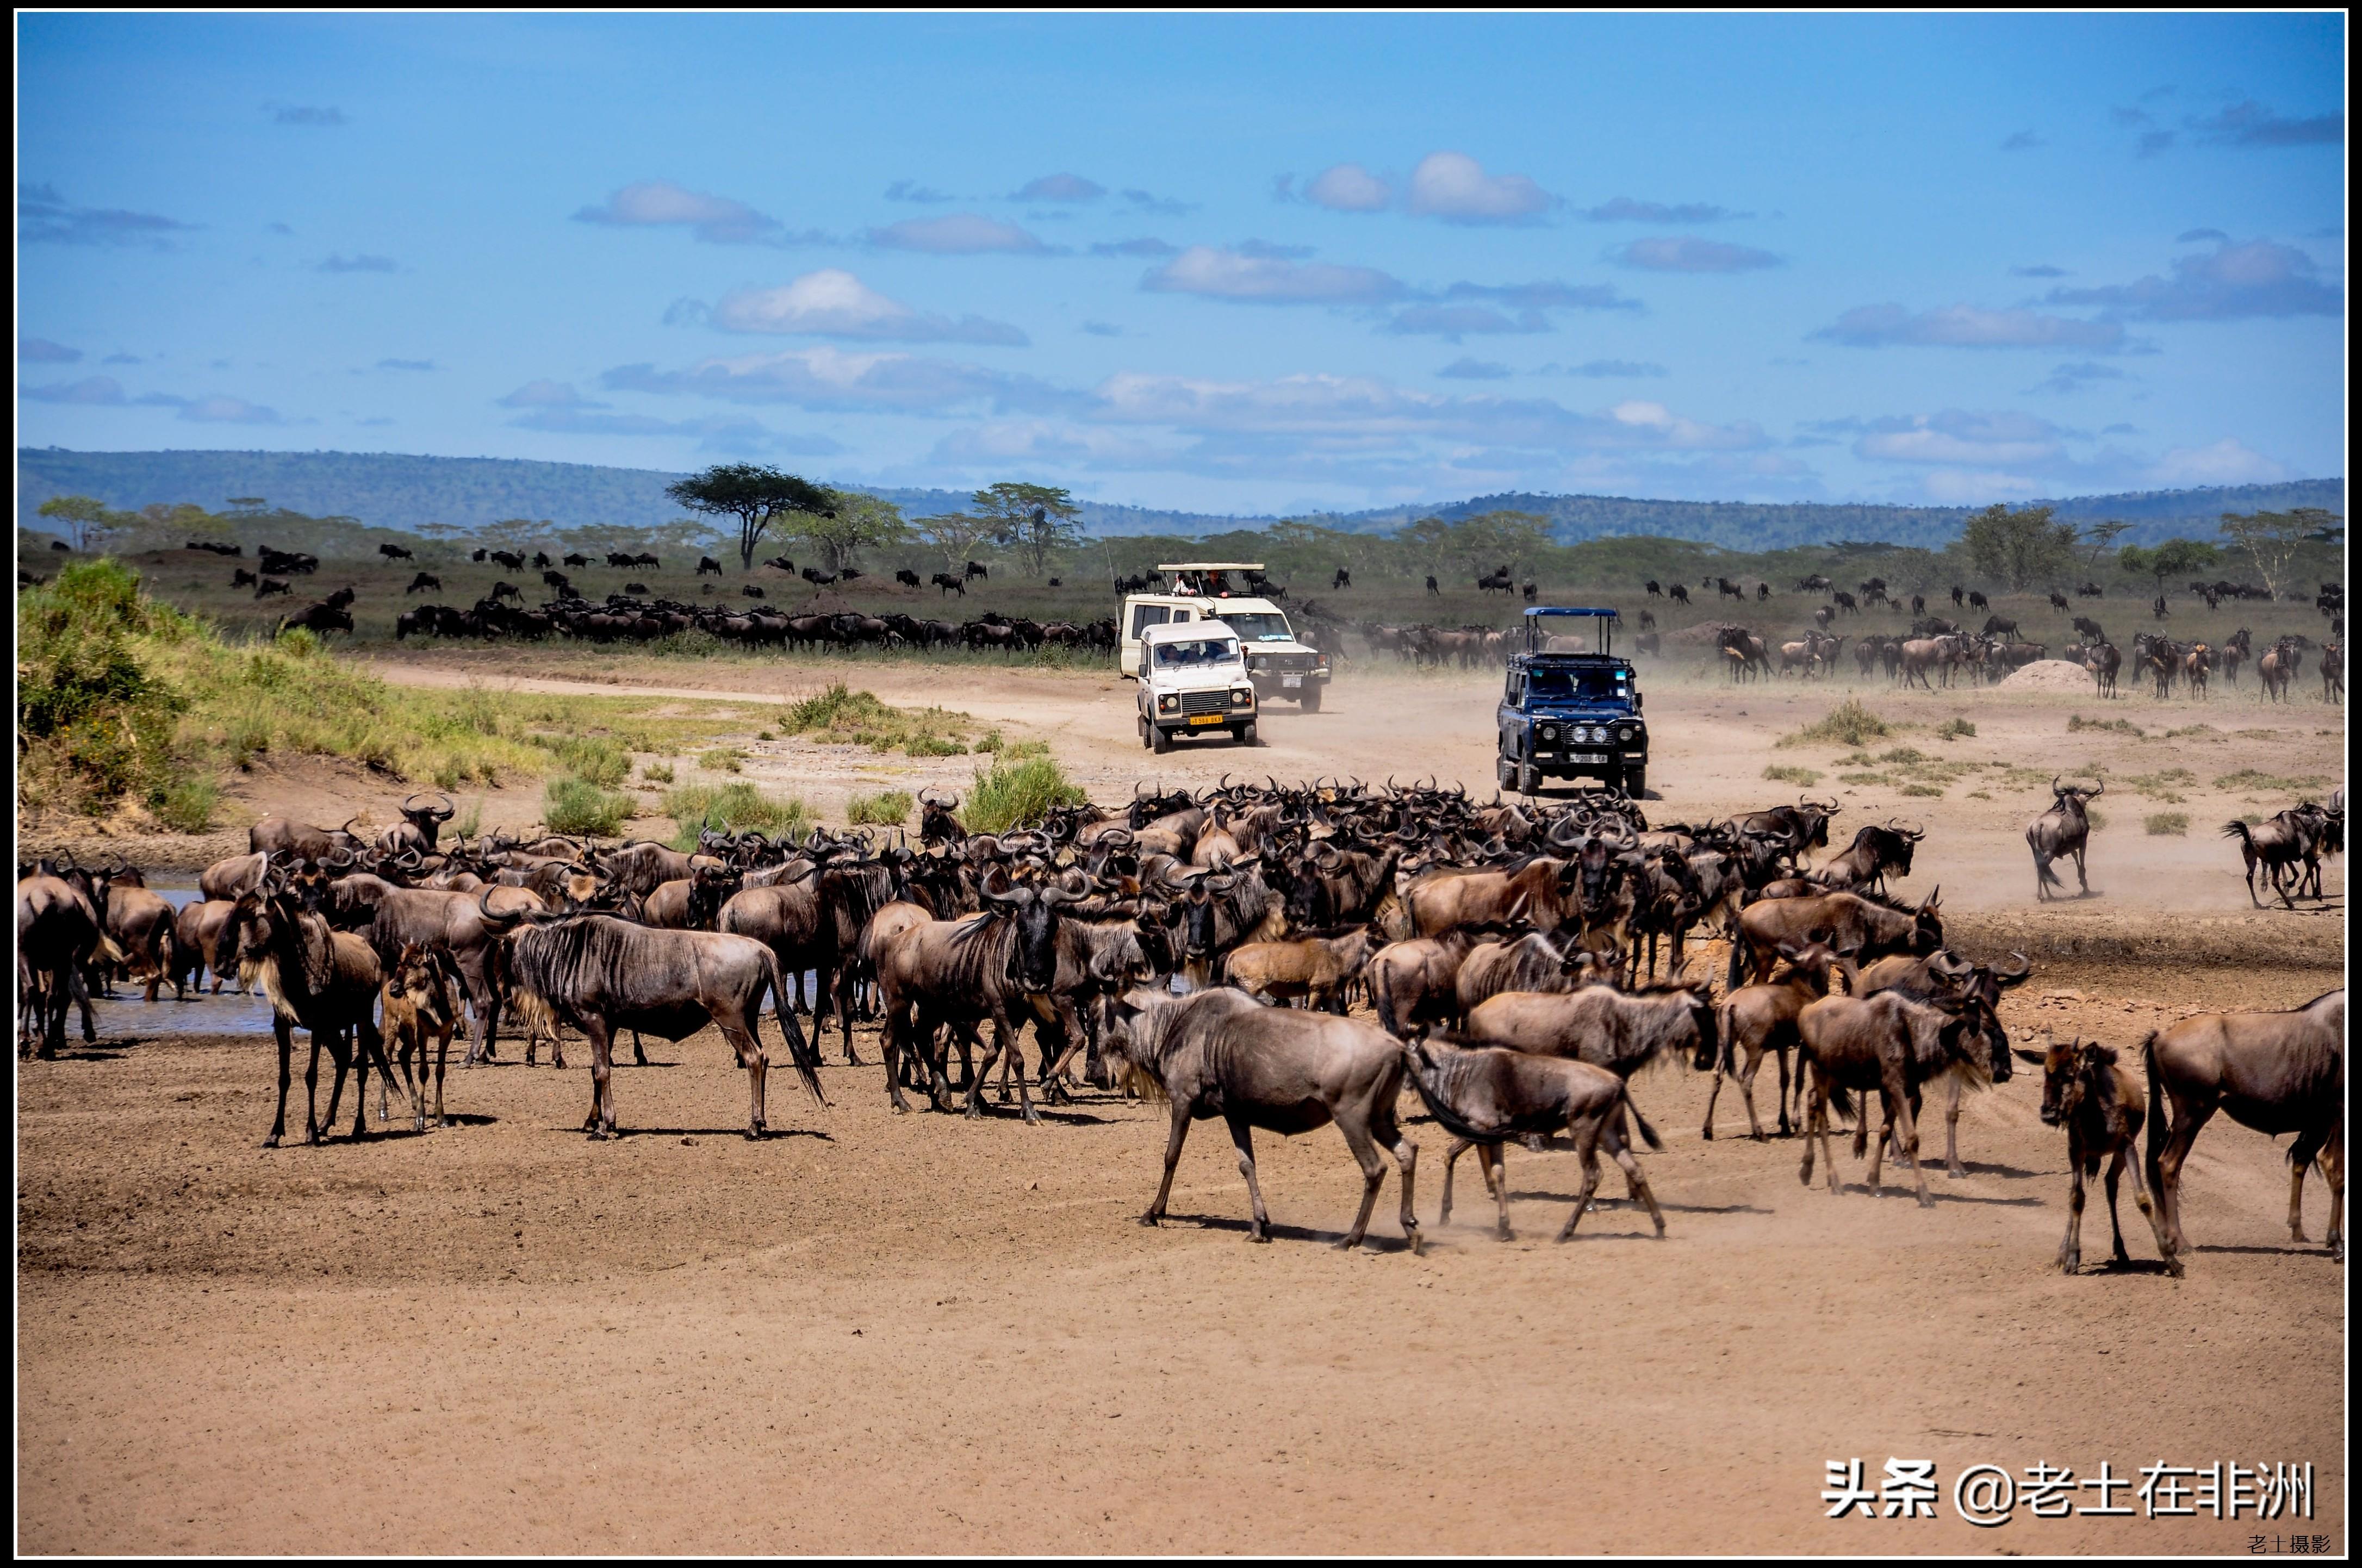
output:
[{"label": "dark blue safari jeep with raised roof, right of white vehicles", "polygon": [[1613,609],[1526,612],[1526,649],[1509,656],[1495,716],[1502,789],[1531,796],[1542,779],[1592,777],[1635,801],[1649,793],[1639,680],[1611,649],[1613,626]]}]

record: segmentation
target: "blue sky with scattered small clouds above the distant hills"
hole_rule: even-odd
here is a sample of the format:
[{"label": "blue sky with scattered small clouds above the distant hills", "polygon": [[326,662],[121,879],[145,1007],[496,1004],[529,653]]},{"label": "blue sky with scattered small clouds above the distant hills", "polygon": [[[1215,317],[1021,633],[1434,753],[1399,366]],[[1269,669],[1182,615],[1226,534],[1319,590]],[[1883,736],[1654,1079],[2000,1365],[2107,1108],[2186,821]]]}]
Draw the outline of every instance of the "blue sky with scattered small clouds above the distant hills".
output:
[{"label": "blue sky with scattered small clouds above the distant hills", "polygon": [[19,442],[1290,512],[2343,475],[2341,17],[21,17]]}]

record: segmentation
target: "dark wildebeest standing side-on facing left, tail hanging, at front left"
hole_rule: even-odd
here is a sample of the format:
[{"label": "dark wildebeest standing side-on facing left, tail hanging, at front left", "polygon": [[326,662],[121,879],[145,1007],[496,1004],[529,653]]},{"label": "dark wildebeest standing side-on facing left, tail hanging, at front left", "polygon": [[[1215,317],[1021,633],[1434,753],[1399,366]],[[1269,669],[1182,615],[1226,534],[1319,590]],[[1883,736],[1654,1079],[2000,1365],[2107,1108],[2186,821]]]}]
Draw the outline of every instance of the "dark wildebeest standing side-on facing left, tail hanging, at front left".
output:
[{"label": "dark wildebeest standing side-on facing left, tail hanging, at front left", "polygon": [[[487,926],[501,919],[482,914]],[[829,1103],[820,1091],[820,1053],[796,1027],[787,978],[761,942],[716,930],[650,930],[609,914],[515,919],[531,921],[505,937],[505,966],[520,1001],[546,1013],[550,1025],[581,1030],[590,1041],[590,1115],[583,1117],[583,1131],[593,1138],[616,1136],[614,1032],[687,1039],[709,1023],[746,1070],[746,1136],[761,1138],[768,1131],[763,1079],[770,1072],[761,1034],[765,992],[805,1091],[815,1105]]]}]

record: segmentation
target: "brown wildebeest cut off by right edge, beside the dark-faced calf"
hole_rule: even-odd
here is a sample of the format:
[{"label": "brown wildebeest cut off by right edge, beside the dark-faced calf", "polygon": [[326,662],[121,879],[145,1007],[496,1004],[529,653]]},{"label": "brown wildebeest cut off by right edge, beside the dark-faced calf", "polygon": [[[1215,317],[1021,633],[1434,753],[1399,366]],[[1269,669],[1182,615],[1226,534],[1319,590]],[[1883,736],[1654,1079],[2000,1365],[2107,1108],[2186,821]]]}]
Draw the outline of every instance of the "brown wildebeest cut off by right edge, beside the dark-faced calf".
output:
[{"label": "brown wildebeest cut off by right edge, beside the dark-faced calf", "polygon": [[[2182,1230],[2182,1162],[2213,1112],[2289,1145],[2289,1240],[2305,1240],[2305,1167],[2329,1183],[2329,1256],[2345,1256],[2345,987],[2286,1013],[2199,1013],[2140,1041],[2149,1074],[2149,1188],[2173,1254]],[[2166,1126],[2164,1100],[2173,1100]]]}]

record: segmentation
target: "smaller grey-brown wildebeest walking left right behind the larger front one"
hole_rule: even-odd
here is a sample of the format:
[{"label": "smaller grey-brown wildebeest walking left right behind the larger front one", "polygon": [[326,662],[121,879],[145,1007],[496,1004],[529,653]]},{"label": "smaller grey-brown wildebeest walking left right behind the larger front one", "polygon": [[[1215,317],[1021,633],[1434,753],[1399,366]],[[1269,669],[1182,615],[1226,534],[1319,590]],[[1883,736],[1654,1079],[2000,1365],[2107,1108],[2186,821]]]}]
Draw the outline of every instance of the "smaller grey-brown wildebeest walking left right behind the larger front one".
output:
[{"label": "smaller grey-brown wildebeest walking left right behind the larger front one", "polygon": [[1649,1148],[1665,1148],[1649,1126],[1649,1119],[1632,1105],[1625,1082],[1606,1067],[1590,1063],[1533,1056],[1505,1046],[1464,1048],[1446,1039],[1410,1041],[1403,1048],[1410,1063],[1410,1086],[1436,1117],[1436,1124],[1453,1136],[1450,1152],[1443,1155],[1443,1214],[1438,1226],[1453,1223],[1453,1164],[1462,1150],[1474,1148],[1486,1185],[1493,1190],[1493,1233],[1509,1240],[1509,1167],[1502,1155],[1507,1138],[1545,1138],[1568,1131],[1575,1152],[1583,1155],[1583,1193],[1575,1211],[1559,1228],[1559,1240],[1575,1233],[1575,1223],[1592,1207],[1599,1190],[1599,1145],[1623,1167],[1632,1193],[1649,1204],[1658,1237],[1665,1235],[1665,1211],[1656,1207],[1656,1193],[1639,1169],[1639,1159],[1623,1138],[1623,1115],[1632,1112],[1639,1136]]}]

